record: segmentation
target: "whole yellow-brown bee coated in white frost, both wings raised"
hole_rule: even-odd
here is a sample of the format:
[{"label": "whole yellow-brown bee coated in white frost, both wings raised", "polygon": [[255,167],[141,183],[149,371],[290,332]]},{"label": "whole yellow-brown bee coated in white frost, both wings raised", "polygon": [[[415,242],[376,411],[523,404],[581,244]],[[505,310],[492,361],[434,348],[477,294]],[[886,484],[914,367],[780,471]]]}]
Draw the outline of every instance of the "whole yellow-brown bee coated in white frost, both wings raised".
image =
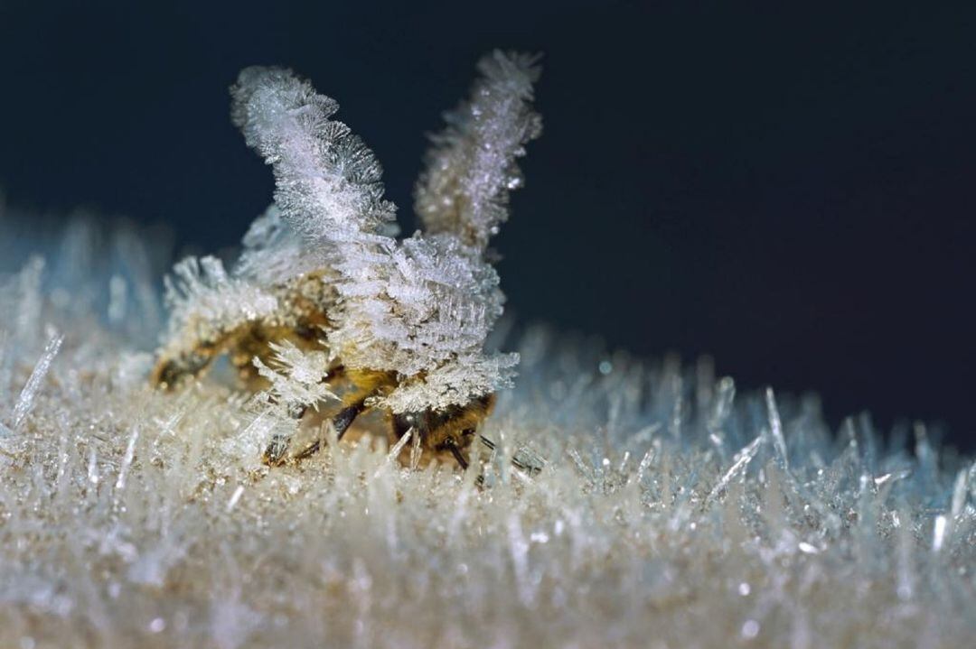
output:
[{"label": "whole yellow-brown bee coated in white frost, both wings raised", "polygon": [[[467,467],[518,363],[484,349],[504,302],[488,241],[522,183],[514,161],[542,129],[534,57],[495,52],[478,69],[417,183],[424,230],[402,240],[372,151],[331,119],[338,104],[290,70],[243,70],[231,115],[273,168],[274,204],[231,272],[214,257],[188,258],[167,278],[172,319],[152,381],[173,389],[226,355],[292,420],[329,408],[342,438],[378,409],[395,439],[412,431],[424,450]],[[319,442],[289,445],[275,435],[265,461],[305,457]]]}]

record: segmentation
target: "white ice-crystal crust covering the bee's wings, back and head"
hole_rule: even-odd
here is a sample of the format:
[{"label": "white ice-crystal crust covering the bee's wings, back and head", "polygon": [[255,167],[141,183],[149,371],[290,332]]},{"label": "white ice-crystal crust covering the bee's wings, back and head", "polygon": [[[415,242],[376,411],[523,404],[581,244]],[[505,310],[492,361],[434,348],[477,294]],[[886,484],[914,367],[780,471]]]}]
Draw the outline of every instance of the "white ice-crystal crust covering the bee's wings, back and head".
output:
[{"label": "white ice-crystal crust covering the bee's wings, back and head", "polygon": [[482,78],[448,116],[418,184],[425,231],[401,241],[380,165],[333,119],[338,104],[289,70],[241,72],[231,114],[274,170],[274,206],[252,225],[231,278],[210,258],[203,273],[192,259],[178,267],[171,355],[190,351],[198,334],[287,312],[277,288],[319,272],[334,291],[320,304],[332,358],[398,377],[371,404],[441,409],[508,387],[517,355],[484,349],[504,302],[487,245],[521,183],[514,161],[541,132],[531,108],[539,70],[533,57],[500,52],[478,67]]}]

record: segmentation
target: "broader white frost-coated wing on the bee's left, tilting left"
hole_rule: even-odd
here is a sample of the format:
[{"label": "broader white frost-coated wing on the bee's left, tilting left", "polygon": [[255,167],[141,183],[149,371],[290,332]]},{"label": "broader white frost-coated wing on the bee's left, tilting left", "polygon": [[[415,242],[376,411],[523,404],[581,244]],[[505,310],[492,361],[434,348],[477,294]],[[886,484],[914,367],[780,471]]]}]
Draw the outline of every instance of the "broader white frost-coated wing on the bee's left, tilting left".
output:
[{"label": "broader white frost-coated wing on the bee's left, tilting left", "polygon": [[249,67],[230,89],[231,118],[274,168],[274,201],[294,230],[322,243],[386,232],[395,208],[383,170],[342,122],[339,104],[291,70]]}]

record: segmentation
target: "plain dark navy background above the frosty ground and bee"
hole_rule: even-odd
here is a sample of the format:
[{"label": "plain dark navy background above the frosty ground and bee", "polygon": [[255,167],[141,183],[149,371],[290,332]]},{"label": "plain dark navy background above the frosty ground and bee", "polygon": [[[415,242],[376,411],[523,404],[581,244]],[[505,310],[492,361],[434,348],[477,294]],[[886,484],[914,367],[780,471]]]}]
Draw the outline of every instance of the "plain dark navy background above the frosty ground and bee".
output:
[{"label": "plain dark navy background above the frosty ground and bee", "polygon": [[226,88],[274,63],[340,101],[410,232],[476,58],[540,51],[546,133],[497,240],[522,319],[976,446],[973,5],[210,4],[0,2],[9,202],[234,245],[271,176]]}]

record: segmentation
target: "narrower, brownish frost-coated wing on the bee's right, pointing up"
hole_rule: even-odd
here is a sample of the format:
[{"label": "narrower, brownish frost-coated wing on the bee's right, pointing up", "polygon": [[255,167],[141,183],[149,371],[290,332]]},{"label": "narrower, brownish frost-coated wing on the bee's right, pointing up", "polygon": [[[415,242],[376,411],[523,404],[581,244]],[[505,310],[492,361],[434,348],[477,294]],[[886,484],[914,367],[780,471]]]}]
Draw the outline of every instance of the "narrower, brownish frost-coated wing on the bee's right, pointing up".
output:
[{"label": "narrower, brownish frost-coated wing on the bee's right, pointing up", "polygon": [[536,60],[496,50],[478,62],[481,78],[468,101],[445,115],[447,128],[432,137],[417,183],[414,209],[427,232],[484,249],[508,219],[508,192],[522,184],[515,159],[542,133],[532,109]]}]

